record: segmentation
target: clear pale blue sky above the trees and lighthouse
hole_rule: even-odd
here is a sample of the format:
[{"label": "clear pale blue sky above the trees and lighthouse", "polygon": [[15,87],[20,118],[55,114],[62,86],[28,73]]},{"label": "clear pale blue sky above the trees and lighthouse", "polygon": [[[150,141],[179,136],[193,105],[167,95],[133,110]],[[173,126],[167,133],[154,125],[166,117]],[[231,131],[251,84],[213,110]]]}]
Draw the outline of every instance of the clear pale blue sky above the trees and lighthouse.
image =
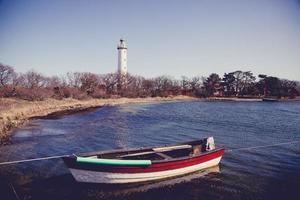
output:
[{"label": "clear pale blue sky above the trees and lighthouse", "polygon": [[0,62],[18,72],[115,72],[121,37],[129,73],[147,78],[300,81],[299,0],[0,0]]}]

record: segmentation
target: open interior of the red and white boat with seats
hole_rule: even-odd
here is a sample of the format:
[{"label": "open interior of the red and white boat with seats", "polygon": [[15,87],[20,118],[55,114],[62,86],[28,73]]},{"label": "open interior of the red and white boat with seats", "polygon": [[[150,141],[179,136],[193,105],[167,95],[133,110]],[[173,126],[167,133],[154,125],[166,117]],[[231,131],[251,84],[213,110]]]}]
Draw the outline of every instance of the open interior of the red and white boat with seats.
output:
[{"label": "open interior of the red and white boat with seats", "polygon": [[90,158],[122,159],[122,160],[169,160],[186,156],[197,156],[201,153],[213,150],[214,143],[209,143],[207,139],[163,146],[157,148],[135,149],[129,151],[116,151],[89,156]]}]

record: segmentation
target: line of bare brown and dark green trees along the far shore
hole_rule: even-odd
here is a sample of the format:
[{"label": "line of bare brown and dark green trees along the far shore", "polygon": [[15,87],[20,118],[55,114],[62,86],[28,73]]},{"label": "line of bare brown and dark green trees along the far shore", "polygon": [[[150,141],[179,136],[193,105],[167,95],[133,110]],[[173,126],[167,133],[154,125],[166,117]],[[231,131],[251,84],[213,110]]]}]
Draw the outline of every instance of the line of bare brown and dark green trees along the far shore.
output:
[{"label": "line of bare brown and dark green trees along the far shore", "polygon": [[[124,78],[124,77],[123,77]],[[0,63],[0,97],[26,100],[45,98],[118,98],[166,97],[188,95],[195,97],[288,97],[300,95],[300,84],[250,71],[234,71],[220,77],[170,76],[145,78],[128,74],[126,85],[120,85],[118,73],[94,74],[69,72],[64,76],[45,76],[34,70],[18,73],[13,67]]]}]

